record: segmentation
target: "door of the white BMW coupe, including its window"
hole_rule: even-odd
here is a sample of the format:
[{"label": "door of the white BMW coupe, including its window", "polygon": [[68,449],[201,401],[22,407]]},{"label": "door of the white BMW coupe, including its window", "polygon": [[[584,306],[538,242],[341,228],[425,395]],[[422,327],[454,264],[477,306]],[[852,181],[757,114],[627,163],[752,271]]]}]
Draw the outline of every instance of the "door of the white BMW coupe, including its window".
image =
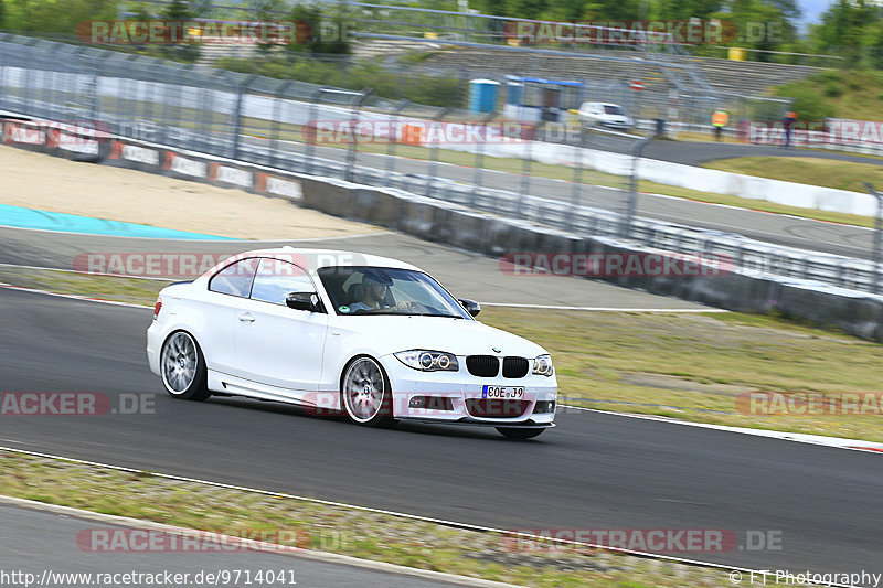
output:
[{"label": "door of the white BMW coupe, including its window", "polygon": [[251,298],[242,301],[236,324],[236,363],[243,377],[287,388],[292,397],[301,396],[298,391],[318,389],[328,314],[285,303],[289,292],[315,291],[301,267],[260,259]]}]

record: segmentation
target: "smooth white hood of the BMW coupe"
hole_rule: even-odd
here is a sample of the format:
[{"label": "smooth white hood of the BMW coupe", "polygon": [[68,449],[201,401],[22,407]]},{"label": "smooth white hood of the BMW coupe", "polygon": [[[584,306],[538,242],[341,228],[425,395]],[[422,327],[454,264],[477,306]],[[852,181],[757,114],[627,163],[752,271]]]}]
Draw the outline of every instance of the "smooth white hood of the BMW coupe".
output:
[{"label": "smooth white hood of the BMW coupe", "polygon": [[338,324],[348,334],[370,338],[371,346],[383,354],[412,349],[446,351],[455,355],[535,357],[546,353],[524,338],[465,319],[351,316],[338,317]]}]

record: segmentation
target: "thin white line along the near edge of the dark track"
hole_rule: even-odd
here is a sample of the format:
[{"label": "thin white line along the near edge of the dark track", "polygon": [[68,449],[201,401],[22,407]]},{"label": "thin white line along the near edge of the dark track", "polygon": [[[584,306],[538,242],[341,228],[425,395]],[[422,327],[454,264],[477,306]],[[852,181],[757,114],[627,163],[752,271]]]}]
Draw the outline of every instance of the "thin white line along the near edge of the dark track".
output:
[{"label": "thin white line along the near edge of the dark track", "polygon": [[[513,537],[513,538],[518,537],[518,538],[531,539],[531,541],[544,541],[544,542],[549,541],[549,537],[543,537],[541,535],[533,535],[533,534],[530,534],[530,533],[512,533],[511,531],[507,531],[507,530],[503,530],[503,528],[496,528],[496,527],[476,525],[476,524],[471,524],[471,523],[461,523],[461,522],[458,522],[458,521],[448,521],[448,520],[445,520],[445,518],[435,518],[435,517],[432,517],[432,516],[422,516],[422,515],[418,515],[418,514],[402,513],[402,512],[396,512],[396,511],[387,511],[387,510],[384,510],[384,509],[373,509],[371,506],[361,506],[361,505],[358,505],[358,504],[348,504],[345,502],[336,502],[336,501],[330,501],[330,500],[321,500],[321,499],[313,499],[313,498],[308,498],[308,496],[299,496],[297,494],[289,494],[287,492],[274,492],[274,491],[270,491],[270,490],[262,490],[262,489],[248,488],[248,487],[236,485],[236,484],[227,484],[227,483],[224,483],[224,482],[213,482],[211,480],[200,480],[198,478],[187,478],[187,477],[183,477],[183,475],[174,475],[174,474],[170,474],[170,473],[156,472],[156,471],[151,471],[151,470],[139,470],[139,469],[136,469],[136,468],[126,468],[126,467],[121,467],[121,466],[111,466],[111,464],[102,463],[102,462],[98,462],[98,461],[89,461],[89,460],[83,460],[83,459],[76,459],[76,458],[68,458],[68,457],[65,457],[65,456],[55,456],[55,455],[52,455],[52,453],[43,453],[43,452],[40,452],[40,451],[30,451],[30,450],[26,450],[26,449],[18,449],[18,448],[13,448],[13,447],[0,446],[0,451],[10,451],[10,452],[13,452],[13,453],[22,453],[22,455],[25,455],[25,456],[33,456],[33,457],[47,458],[47,459],[57,459],[57,460],[62,460],[62,461],[68,461],[71,463],[82,463],[84,466],[93,466],[93,467],[97,467],[97,468],[106,468],[106,469],[110,469],[110,470],[124,471],[124,472],[141,474],[141,475],[153,475],[153,477],[157,477],[157,478],[163,478],[166,480],[174,480],[174,481],[179,481],[179,482],[190,482],[190,483],[205,484],[205,485],[210,485],[210,487],[214,487],[214,488],[224,488],[224,489],[227,489],[227,490],[238,490],[238,491],[242,491],[242,492],[253,492],[253,493],[256,493],[256,494],[274,496],[274,498],[277,498],[277,499],[298,500],[298,501],[302,501],[302,502],[310,502],[310,503],[313,503],[313,504],[322,504],[322,505],[326,505],[326,506],[334,506],[334,507],[339,507],[339,509],[350,509],[350,510],[353,510],[353,511],[362,511],[362,512],[383,514],[383,515],[387,515],[387,516],[395,516],[395,517],[398,517],[398,518],[407,518],[407,520],[411,520],[411,521],[419,521],[419,522],[423,522],[423,523],[433,523],[433,524],[437,524],[437,525],[449,526],[449,527],[453,527],[453,528],[461,528],[461,530],[465,530],[465,531],[475,531],[475,532],[479,532],[479,533],[493,533],[493,534],[501,535],[501,536],[508,536],[508,537]],[[570,546],[573,546],[573,547],[583,547],[583,548],[586,548],[586,549],[602,549],[602,550],[619,553],[619,554],[624,554],[624,555],[634,555],[634,556],[637,556],[637,557],[646,557],[646,558],[649,558],[649,559],[659,559],[659,560],[662,560],[662,562],[672,562],[672,563],[678,563],[678,564],[687,564],[687,565],[691,565],[691,566],[699,566],[699,567],[705,567],[705,568],[712,568],[712,569],[736,570],[736,571],[745,571],[745,573],[749,573],[749,574],[751,573],[758,574],[758,573],[763,571],[763,570],[758,570],[758,569],[742,568],[742,567],[736,567],[736,566],[727,566],[727,565],[724,565],[724,564],[713,564],[713,563],[710,563],[710,562],[701,562],[701,560],[696,560],[696,559],[687,559],[687,558],[683,558],[683,557],[674,557],[674,556],[660,555],[660,554],[655,554],[655,553],[637,552],[637,550],[631,550],[631,549],[623,549],[623,548],[619,548],[619,547],[608,547],[608,546],[604,546],[604,545],[598,545],[598,544],[587,543],[587,542],[579,542],[579,541],[555,539],[555,543],[558,544],[558,545],[570,545]],[[831,585],[825,585],[825,586],[845,586],[845,585],[831,584]]]}]

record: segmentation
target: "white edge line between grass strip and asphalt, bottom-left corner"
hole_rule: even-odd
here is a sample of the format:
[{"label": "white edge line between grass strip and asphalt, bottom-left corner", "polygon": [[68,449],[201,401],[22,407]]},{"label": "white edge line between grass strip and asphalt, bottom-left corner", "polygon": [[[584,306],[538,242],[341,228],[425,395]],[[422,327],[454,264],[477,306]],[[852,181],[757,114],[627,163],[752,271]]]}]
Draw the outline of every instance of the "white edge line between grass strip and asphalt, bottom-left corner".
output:
[{"label": "white edge line between grass strip and asphalt, bottom-left corner", "polygon": [[[23,507],[33,511],[50,512],[53,514],[70,516],[74,518],[82,518],[86,521],[99,521],[102,523],[119,525],[124,527],[158,531],[169,535],[178,536],[193,536],[193,534],[202,534],[209,537],[205,531],[198,528],[188,528],[174,525],[167,525],[163,523],[156,523],[153,521],[145,521],[141,518],[131,518],[129,516],[117,516],[113,514],[96,513],[93,511],[85,511],[83,509],[72,509],[71,506],[61,506],[58,504],[47,504],[45,502],[38,502],[33,500],[19,499],[15,496],[7,496],[0,494],[0,504],[10,506]],[[428,569],[419,569],[407,566],[400,566],[396,564],[389,564],[386,562],[374,562],[372,559],[363,559],[361,557],[352,557],[349,555],[334,554],[330,552],[319,552],[313,549],[305,549],[300,547],[292,547],[288,545],[279,545],[275,543],[255,541],[237,537],[235,535],[224,535],[220,533],[211,533],[211,537],[216,537],[219,544],[225,546],[242,547],[246,552],[260,552],[281,554],[287,556],[300,557],[304,559],[312,559],[323,562],[327,564],[339,564],[352,567],[366,568],[374,571],[385,571],[389,574],[400,574],[402,576],[415,576],[429,580],[443,581],[446,584],[454,584],[458,586],[480,586],[487,588],[519,588],[513,584],[503,584],[499,581],[483,580],[480,578],[472,578],[468,576],[459,576],[457,574],[447,574],[444,571],[433,571]],[[208,541],[204,538],[203,541]],[[149,553],[149,552],[146,552]]]}]

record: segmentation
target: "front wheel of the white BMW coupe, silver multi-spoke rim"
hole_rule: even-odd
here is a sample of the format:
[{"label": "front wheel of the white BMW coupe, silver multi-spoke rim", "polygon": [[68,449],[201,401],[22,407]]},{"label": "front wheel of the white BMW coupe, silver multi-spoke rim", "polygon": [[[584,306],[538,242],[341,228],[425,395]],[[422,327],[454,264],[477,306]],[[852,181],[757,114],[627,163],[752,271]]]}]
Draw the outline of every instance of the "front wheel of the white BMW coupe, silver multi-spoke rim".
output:
[{"label": "front wheel of the white BMW coupe, silver multi-spoke rim", "polygon": [[340,391],[343,409],[353,423],[368,427],[394,423],[389,379],[373,357],[362,355],[347,364]]}]

